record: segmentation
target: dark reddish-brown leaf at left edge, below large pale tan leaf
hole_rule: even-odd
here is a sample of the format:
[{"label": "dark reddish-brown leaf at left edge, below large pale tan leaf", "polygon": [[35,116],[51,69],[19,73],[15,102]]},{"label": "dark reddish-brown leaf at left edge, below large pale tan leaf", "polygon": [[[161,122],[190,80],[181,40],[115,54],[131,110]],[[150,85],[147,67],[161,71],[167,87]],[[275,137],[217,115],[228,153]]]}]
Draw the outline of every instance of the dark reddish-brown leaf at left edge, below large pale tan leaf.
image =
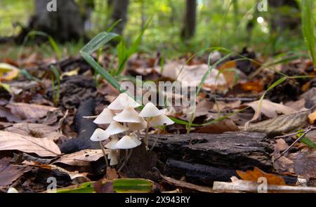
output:
[{"label": "dark reddish-brown leaf at left edge, below large pale tan leaf", "polygon": [[10,157],[0,159],[0,186],[11,185],[11,183],[20,178],[23,173],[32,170],[31,167],[12,166],[10,161]]}]

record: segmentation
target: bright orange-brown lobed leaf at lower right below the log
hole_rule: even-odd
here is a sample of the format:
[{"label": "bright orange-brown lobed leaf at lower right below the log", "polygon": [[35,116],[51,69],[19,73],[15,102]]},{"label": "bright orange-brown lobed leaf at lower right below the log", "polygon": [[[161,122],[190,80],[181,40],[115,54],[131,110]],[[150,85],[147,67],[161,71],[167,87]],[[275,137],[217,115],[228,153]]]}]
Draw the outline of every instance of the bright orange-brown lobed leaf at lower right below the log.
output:
[{"label": "bright orange-brown lobed leaf at lower right below the log", "polygon": [[236,171],[236,173],[237,175],[239,175],[240,178],[242,178],[242,180],[257,182],[258,178],[264,177],[267,179],[268,184],[270,185],[285,185],[285,181],[282,177],[270,173],[265,173],[257,167],[254,167],[254,171]]}]

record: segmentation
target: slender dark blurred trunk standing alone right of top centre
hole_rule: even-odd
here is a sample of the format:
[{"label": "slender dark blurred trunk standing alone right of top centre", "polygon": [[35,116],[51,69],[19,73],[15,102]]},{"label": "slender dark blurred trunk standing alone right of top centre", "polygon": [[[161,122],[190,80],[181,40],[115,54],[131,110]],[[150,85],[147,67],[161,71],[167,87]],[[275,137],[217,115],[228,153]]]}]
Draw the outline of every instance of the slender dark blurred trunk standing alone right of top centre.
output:
[{"label": "slender dark blurred trunk standing alone right of top centre", "polygon": [[195,34],[197,19],[197,1],[186,0],[185,16],[183,20],[183,29],[181,31],[182,39],[190,39]]}]

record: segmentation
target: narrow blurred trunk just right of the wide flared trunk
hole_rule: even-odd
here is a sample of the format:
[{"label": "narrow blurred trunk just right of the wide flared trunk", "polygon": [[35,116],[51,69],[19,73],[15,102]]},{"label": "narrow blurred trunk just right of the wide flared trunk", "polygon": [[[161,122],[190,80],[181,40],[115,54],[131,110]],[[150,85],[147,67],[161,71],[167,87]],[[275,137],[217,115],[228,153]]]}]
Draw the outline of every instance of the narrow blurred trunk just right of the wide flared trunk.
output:
[{"label": "narrow blurred trunk just right of the wide flared trunk", "polygon": [[117,24],[113,32],[117,34],[122,34],[124,30],[124,26],[127,21],[127,10],[129,8],[129,0],[115,0],[113,4],[113,12],[112,12],[112,23],[121,19],[121,22]]}]

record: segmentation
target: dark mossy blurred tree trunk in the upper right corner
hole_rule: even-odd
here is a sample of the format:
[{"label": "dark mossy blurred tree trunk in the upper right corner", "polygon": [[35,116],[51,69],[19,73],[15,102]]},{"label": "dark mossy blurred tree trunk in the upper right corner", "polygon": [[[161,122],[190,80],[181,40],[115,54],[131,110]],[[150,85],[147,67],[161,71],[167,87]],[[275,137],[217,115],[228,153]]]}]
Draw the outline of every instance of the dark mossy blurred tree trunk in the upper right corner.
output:
[{"label": "dark mossy blurred tree trunk in the upper right corner", "polygon": [[300,25],[299,6],[296,0],[268,0],[271,8],[272,32],[282,33],[287,29],[297,29]]}]

